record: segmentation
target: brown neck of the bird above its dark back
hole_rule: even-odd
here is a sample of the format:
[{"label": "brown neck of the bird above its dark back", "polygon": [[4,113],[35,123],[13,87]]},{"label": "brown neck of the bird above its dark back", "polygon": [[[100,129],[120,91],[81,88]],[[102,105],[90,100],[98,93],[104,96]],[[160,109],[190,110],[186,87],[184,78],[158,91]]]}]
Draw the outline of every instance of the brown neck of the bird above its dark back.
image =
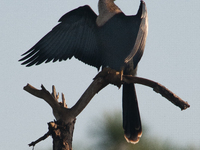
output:
[{"label": "brown neck of the bird above its dark back", "polygon": [[98,8],[99,16],[96,20],[98,26],[104,25],[115,14],[121,12],[119,7],[115,5],[114,0],[99,0]]}]

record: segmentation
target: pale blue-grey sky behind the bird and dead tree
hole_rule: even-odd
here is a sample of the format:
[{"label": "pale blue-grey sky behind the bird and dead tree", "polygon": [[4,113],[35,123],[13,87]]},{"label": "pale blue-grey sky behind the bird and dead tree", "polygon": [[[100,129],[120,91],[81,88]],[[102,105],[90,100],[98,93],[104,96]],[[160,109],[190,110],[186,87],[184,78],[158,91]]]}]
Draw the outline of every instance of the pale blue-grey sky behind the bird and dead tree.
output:
[{"label": "pale blue-grey sky behind the bird and dead tree", "polygon": [[[25,67],[18,60],[66,12],[90,5],[98,14],[97,0],[2,0],[0,2],[0,149],[31,149],[28,144],[47,132],[54,120],[50,106],[23,90],[30,83],[51,92],[55,85],[73,106],[98,73],[71,59]],[[117,0],[126,15],[136,14],[139,0]],[[149,87],[136,85],[142,123],[148,133],[178,145],[200,145],[200,1],[146,1],[149,33],[137,76],[166,86],[191,107],[181,111]],[[121,89],[112,85],[100,91],[77,117],[74,144],[88,140],[89,128],[107,113],[121,111]],[[145,133],[143,133],[145,134]],[[141,138],[142,140],[142,138]],[[86,142],[87,143],[87,142]],[[36,145],[49,148],[51,138]]]}]

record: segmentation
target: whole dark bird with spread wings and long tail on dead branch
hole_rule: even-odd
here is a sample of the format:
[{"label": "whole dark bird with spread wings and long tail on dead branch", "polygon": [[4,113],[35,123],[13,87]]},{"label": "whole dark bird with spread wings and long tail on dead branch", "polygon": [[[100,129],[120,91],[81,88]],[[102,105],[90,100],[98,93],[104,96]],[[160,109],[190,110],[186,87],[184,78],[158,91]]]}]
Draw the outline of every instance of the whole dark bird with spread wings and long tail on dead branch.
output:
[{"label": "whole dark bird with spread wings and long tail on dead branch", "polygon": [[[136,15],[126,16],[114,0],[99,0],[99,16],[87,5],[74,9],[59,20],[30,50],[23,65],[62,61],[72,56],[96,68],[110,67],[135,75],[145,48],[148,16],[141,0]],[[123,128],[128,142],[137,143],[142,126],[134,84],[123,84]]]}]

